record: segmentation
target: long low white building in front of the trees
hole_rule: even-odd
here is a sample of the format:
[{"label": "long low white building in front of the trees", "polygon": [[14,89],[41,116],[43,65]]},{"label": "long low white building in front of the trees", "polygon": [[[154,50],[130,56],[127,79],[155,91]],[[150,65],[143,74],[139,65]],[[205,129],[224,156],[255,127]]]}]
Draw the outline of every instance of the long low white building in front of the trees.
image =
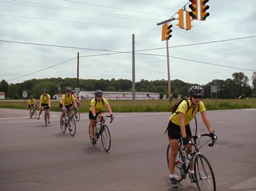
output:
[{"label": "long low white building in front of the trees", "polygon": [[[95,91],[80,91],[78,96],[79,99],[92,99],[94,98]],[[132,92],[104,92],[103,97],[106,99],[115,100],[132,100]],[[152,92],[135,92],[135,99],[159,99],[159,93]]]}]

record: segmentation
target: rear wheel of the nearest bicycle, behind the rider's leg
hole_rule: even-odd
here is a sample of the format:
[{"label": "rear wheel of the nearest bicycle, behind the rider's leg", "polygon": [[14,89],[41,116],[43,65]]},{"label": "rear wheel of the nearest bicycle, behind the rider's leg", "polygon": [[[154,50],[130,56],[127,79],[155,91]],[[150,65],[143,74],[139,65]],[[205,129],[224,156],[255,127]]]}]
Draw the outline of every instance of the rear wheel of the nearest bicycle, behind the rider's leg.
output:
[{"label": "rear wheel of the nearest bicycle, behind the rider's leg", "polygon": [[[170,156],[171,148],[170,145],[167,145],[167,164],[169,169],[169,156]],[[175,158],[175,166],[174,166],[174,175],[177,181],[182,181],[182,156],[180,152],[177,152],[177,156]]]}]

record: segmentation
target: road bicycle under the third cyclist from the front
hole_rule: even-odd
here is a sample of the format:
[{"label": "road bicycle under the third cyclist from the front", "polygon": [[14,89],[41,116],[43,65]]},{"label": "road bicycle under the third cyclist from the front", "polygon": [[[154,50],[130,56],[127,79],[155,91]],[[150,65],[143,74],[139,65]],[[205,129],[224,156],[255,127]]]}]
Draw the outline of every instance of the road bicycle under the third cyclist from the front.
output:
[{"label": "road bicycle under the third cyclist from the front", "polygon": [[66,129],[68,128],[72,137],[76,134],[76,121],[74,120],[71,109],[68,109],[64,113],[63,119],[60,119],[60,127],[62,133],[66,133]]}]

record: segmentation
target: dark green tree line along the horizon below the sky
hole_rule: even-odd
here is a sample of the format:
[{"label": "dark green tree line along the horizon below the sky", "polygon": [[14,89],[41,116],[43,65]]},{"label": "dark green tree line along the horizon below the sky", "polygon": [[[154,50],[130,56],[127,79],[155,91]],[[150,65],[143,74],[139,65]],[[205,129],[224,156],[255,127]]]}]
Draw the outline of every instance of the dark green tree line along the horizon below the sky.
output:
[{"label": "dark green tree line along the horizon below the sky", "polygon": [[[232,79],[227,80],[212,80],[208,84],[190,84],[181,80],[171,80],[171,93],[173,98],[179,95],[182,97],[188,96],[188,88],[193,85],[203,87],[203,98],[218,98],[218,99],[237,99],[238,97],[256,97],[256,72],[251,76],[253,86],[248,84],[249,80],[244,73],[233,73]],[[79,84],[79,87],[77,87]],[[211,92],[211,86],[217,86],[217,94]],[[61,78],[52,77],[46,79],[31,79],[25,82],[8,84],[5,80],[0,82],[0,92],[5,92],[5,99],[21,99],[23,92],[27,91],[27,96],[33,95],[35,99],[39,99],[42,94],[42,89],[46,88],[48,93],[53,97],[54,94],[63,94],[67,87],[72,89],[80,88],[81,91],[95,91],[101,89],[103,91],[113,92],[132,92],[132,81],[118,79],[115,80],[86,80],[76,78]],[[168,82],[167,80],[141,80],[135,84],[136,92],[157,92],[160,94],[160,99],[168,97]]]}]

